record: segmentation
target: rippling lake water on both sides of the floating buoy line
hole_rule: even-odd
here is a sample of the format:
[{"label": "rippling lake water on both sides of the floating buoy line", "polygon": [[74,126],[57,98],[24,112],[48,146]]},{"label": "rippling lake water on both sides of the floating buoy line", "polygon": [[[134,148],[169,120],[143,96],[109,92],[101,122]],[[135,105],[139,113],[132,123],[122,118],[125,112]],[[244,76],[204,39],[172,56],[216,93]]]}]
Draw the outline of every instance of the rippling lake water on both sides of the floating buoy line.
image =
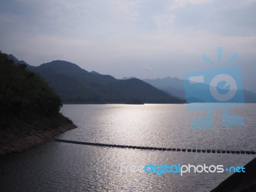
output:
[{"label": "rippling lake water on both sides of the floating buoy line", "polygon": [[[206,105],[206,104],[205,104]],[[221,111],[213,113],[210,130],[191,129],[185,104],[65,105],[62,113],[77,129],[65,140],[221,150],[255,150],[256,105],[231,109],[244,117],[244,127],[222,127]],[[255,155],[204,154],[77,145],[49,141],[20,154],[0,156],[0,191],[210,191],[231,173],[132,173],[120,165],[223,164],[243,166]]]}]

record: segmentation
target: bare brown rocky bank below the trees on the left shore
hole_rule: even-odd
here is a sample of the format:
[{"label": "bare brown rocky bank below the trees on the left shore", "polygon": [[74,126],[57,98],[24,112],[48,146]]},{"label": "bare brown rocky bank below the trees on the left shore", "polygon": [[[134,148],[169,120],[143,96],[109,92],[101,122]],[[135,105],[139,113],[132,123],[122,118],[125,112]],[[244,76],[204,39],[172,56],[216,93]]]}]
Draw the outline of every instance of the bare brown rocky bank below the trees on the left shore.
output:
[{"label": "bare brown rocky bank below the trees on the left shore", "polygon": [[[22,152],[76,127],[62,115],[58,116],[58,120],[42,118],[36,122],[16,122],[11,129],[0,131],[0,154]],[[29,131],[26,131],[27,128]]]}]

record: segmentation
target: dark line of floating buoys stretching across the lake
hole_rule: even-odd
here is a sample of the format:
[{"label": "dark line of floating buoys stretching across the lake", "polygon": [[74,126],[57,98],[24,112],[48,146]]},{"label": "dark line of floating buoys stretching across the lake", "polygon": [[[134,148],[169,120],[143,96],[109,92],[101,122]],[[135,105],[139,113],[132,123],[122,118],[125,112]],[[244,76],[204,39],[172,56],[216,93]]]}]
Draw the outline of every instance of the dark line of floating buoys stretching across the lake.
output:
[{"label": "dark line of floating buoys stretching across the lake", "polygon": [[166,148],[166,147],[144,147],[144,146],[133,146],[133,145],[115,145],[115,144],[106,144],[106,143],[90,143],[84,141],[72,141],[72,140],[60,140],[56,139],[54,141],[64,142],[64,143],[75,143],[81,145],[95,145],[101,147],[116,147],[116,148],[137,148],[143,150],[169,150],[169,151],[178,151],[178,152],[197,152],[197,153],[212,153],[212,154],[253,154],[256,152],[253,150],[211,150],[211,149],[191,149],[191,148]]}]

